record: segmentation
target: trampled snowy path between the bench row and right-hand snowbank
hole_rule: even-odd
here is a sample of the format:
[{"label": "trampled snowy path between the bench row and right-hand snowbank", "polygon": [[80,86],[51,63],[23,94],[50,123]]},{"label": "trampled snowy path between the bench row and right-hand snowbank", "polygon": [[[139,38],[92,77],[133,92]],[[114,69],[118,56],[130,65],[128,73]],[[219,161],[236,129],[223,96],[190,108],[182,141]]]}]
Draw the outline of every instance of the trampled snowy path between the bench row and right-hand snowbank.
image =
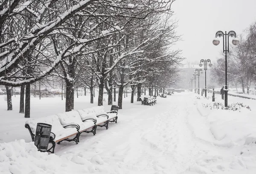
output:
[{"label": "trampled snowy path between the bench row and right-hand snowbank", "polygon": [[111,124],[109,130],[100,130],[96,136],[81,138],[79,145],[68,147],[67,154],[67,147],[57,147],[56,154],[76,157],[83,148],[86,159],[96,158],[102,161],[102,167],[112,166],[114,171],[123,173],[178,174],[186,171],[204,154],[201,142],[193,136],[188,124],[189,116],[200,115],[193,104],[195,96],[186,97],[186,100],[180,95],[160,98],[156,105],[140,105],[143,110],[130,111],[131,115],[125,114],[125,118],[120,110],[118,124]]}]

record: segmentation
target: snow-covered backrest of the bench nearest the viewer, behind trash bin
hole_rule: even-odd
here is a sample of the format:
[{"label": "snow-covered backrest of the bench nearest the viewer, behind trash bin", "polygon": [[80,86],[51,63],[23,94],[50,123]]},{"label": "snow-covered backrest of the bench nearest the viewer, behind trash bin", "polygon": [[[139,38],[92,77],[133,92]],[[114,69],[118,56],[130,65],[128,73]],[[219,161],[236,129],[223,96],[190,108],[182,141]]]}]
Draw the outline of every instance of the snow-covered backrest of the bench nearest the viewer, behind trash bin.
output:
[{"label": "snow-covered backrest of the bench nearest the viewer, behind trash bin", "polygon": [[31,120],[26,121],[26,124],[29,125],[33,134],[35,134],[35,130],[36,130],[38,123],[47,123],[49,125],[52,125],[53,133],[64,129],[61,125],[61,122],[59,121],[58,116],[56,116],[56,115],[45,116],[45,117],[31,119]]}]

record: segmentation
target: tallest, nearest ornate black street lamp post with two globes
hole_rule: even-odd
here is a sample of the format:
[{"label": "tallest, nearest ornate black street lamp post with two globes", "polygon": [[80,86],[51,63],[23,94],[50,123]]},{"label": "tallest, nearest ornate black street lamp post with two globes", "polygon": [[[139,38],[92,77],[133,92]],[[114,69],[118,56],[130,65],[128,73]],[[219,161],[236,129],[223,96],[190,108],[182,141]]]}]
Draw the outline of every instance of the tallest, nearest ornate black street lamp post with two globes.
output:
[{"label": "tallest, nearest ornate black street lamp post with two globes", "polygon": [[232,44],[233,45],[238,45],[239,44],[239,40],[236,39],[236,32],[234,31],[230,31],[230,32],[221,32],[221,31],[218,31],[216,32],[216,35],[215,35],[215,39],[212,41],[212,44],[213,45],[218,45],[220,43],[220,41],[218,40],[217,37],[223,37],[223,52],[225,52],[225,89],[224,89],[224,92],[225,92],[225,107],[227,107],[227,52],[229,52],[229,37],[234,37],[233,40],[232,40]]}]

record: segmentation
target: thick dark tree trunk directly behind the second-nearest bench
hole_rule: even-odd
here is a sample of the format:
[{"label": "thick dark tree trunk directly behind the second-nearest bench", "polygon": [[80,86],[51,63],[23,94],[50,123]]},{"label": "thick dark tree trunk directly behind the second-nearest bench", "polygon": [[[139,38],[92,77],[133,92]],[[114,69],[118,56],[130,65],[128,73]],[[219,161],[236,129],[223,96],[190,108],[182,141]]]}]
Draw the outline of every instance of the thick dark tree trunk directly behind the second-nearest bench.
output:
[{"label": "thick dark tree trunk directly behind the second-nearest bench", "polygon": [[73,108],[74,99],[74,84],[73,81],[66,80],[66,112],[71,111]]}]

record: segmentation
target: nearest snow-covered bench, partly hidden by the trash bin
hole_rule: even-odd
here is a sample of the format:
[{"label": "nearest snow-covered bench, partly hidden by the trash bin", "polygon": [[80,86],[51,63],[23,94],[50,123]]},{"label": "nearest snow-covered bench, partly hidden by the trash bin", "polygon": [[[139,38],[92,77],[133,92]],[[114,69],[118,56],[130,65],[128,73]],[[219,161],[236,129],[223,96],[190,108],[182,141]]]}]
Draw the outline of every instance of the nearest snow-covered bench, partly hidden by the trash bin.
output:
[{"label": "nearest snow-covered bench, partly hidden by the trash bin", "polygon": [[61,125],[59,117],[57,115],[41,117],[37,119],[27,120],[25,123],[25,128],[29,130],[32,141],[35,141],[35,131],[38,123],[47,123],[52,125],[51,135],[49,139],[49,144],[52,147],[47,149],[48,152],[54,153],[55,143],[61,141],[75,141],[76,144],[79,142],[79,125],[74,123],[68,125]]}]

